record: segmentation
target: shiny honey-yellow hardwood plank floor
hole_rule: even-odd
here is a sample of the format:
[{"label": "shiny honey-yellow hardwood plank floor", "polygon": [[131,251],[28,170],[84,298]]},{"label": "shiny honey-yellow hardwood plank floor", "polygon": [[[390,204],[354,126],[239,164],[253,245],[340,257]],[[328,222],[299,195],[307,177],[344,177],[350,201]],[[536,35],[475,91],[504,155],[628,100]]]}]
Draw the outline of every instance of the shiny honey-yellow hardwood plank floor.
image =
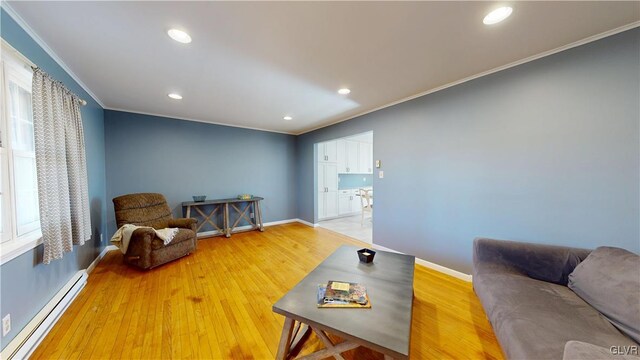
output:
[{"label": "shiny honey-yellow hardwood plank floor", "polygon": [[[112,251],[32,358],[273,359],[284,318],[271,305],[342,244],[365,245],[288,224],[202,239],[148,272]],[[502,359],[470,283],[416,265],[414,288],[412,359]],[[322,348],[314,336],[301,354]],[[383,358],[364,348],[343,355]]]}]

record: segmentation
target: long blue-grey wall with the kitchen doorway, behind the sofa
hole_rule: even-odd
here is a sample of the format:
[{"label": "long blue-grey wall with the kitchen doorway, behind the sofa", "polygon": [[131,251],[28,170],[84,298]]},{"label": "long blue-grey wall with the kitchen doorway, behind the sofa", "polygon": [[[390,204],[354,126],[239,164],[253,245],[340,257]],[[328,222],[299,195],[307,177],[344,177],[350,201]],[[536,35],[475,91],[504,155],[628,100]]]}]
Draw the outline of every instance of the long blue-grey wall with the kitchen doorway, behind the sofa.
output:
[{"label": "long blue-grey wall with the kitchen doorway, behind the sofa", "polygon": [[466,273],[477,236],[638,252],[639,99],[634,29],[301,135],[298,217],[314,143],[373,130],[375,244]]}]

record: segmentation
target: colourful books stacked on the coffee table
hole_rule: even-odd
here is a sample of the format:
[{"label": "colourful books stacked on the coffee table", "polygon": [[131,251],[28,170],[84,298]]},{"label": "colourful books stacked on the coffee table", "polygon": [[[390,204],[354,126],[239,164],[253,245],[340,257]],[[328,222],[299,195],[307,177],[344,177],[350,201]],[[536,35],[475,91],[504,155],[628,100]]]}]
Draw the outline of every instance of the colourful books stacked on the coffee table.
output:
[{"label": "colourful books stacked on the coffee table", "polygon": [[370,308],[371,301],[364,285],[331,280],[318,284],[320,308]]}]

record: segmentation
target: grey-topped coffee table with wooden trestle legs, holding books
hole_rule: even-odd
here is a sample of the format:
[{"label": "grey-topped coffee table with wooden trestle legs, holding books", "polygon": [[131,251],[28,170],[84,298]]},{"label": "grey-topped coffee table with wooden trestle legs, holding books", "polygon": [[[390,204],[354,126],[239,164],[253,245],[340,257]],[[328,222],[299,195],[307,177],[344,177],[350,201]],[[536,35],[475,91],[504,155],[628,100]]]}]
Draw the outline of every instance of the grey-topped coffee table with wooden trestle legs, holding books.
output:
[{"label": "grey-topped coffee table with wooden trestle legs, holding books", "polygon": [[[305,359],[342,359],[340,353],[358,346],[381,352],[385,359],[409,358],[415,257],[377,251],[373,263],[365,264],[358,261],[358,249],[340,247],[273,305],[274,312],[286,317],[277,359],[287,359],[308,331],[326,349]],[[371,309],[318,308],[318,284],[329,280],[364,284]],[[334,344],[327,333],[345,341]]]}]

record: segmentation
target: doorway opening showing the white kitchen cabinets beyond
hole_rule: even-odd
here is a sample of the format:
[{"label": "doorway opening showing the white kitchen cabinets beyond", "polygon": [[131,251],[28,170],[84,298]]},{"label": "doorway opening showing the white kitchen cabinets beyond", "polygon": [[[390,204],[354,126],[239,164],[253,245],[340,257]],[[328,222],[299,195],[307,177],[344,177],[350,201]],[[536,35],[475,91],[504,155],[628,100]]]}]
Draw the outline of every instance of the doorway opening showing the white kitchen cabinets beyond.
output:
[{"label": "doorway opening showing the white kitchen cabinets beyond", "polygon": [[318,225],[373,243],[373,131],[316,149]]}]

